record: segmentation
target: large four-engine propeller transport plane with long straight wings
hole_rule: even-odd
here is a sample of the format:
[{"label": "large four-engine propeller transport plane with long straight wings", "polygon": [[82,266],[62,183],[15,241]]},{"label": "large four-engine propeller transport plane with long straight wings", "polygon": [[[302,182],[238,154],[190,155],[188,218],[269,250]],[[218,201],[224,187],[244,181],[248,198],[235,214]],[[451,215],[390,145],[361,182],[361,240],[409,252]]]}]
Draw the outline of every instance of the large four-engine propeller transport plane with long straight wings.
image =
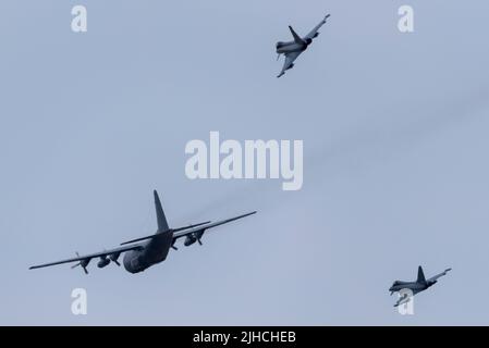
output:
[{"label": "large four-engine propeller transport plane with long straight wings", "polygon": [[156,232],[156,234],[122,243],[121,247],[111,250],[105,250],[102,252],[96,252],[85,256],[78,256],[76,253],[76,258],[39,265],[33,265],[29,268],[29,270],[46,268],[61,263],[77,262],[72,266],[72,269],[81,266],[83,271],[86,274],[88,274],[87,266],[93,259],[100,259],[97,263],[97,266],[99,269],[102,269],[107,266],[111,261],[117,265],[121,265],[118,259],[121,256],[121,253],[124,253],[123,259],[124,269],[130,273],[143,272],[149,266],[164,261],[170,251],[170,248],[178,250],[178,248],[175,247],[175,241],[179,240],[180,238],[185,238],[183,244],[186,247],[193,245],[196,241],[199,245],[201,245],[201,237],[207,229],[256,213],[256,211],[253,211],[243,215],[218,221],[215,223],[206,221],[203,223],[188,225],[185,227],[170,228],[167,222],[167,217],[164,216],[164,212],[161,207],[158,192],[156,190],[154,191],[154,196],[155,196],[156,216],[158,222],[158,231]]}]

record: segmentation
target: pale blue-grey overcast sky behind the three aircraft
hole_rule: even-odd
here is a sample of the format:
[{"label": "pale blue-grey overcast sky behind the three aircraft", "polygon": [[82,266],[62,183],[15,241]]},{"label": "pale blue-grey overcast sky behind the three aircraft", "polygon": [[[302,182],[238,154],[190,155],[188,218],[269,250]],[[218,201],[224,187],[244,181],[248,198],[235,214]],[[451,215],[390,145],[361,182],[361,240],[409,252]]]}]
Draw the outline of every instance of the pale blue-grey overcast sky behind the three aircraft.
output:
[{"label": "pale blue-grey overcast sky behind the three aircraft", "polygon": [[[88,32],[71,30],[84,4]],[[415,33],[398,30],[411,4]],[[274,44],[326,13],[280,79]],[[489,324],[489,2],[0,2],[0,324]],[[190,181],[185,144],[304,140],[304,186]],[[132,275],[39,262],[248,210]],[[452,266],[392,307],[394,279]],[[71,291],[88,314],[71,313]]]}]

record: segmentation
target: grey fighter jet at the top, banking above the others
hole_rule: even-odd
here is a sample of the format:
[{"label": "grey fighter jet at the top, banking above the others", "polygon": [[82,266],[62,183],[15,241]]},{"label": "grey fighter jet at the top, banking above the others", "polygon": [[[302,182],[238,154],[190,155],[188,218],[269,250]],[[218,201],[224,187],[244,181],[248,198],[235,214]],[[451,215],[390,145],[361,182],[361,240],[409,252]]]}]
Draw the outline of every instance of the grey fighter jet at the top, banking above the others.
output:
[{"label": "grey fighter jet at the top, banking above the others", "polygon": [[292,26],[289,25],[289,29],[291,30],[294,40],[288,42],[277,42],[277,53],[279,53],[277,60],[279,60],[280,54],[285,55],[282,71],[277,77],[282,76],[283,74],[285,74],[285,71],[294,67],[294,61],[297,59],[297,57],[301,55],[302,52],[307,49],[307,47],[309,47],[309,45],[313,42],[313,39],[319,35],[319,28],[326,23],[326,20],[328,20],[329,16],[330,14],[326,15],[325,18],[318,25],[316,25],[316,27],[310,30],[310,33],[305,37],[298,36],[297,33],[295,33],[295,30],[292,28]]}]

